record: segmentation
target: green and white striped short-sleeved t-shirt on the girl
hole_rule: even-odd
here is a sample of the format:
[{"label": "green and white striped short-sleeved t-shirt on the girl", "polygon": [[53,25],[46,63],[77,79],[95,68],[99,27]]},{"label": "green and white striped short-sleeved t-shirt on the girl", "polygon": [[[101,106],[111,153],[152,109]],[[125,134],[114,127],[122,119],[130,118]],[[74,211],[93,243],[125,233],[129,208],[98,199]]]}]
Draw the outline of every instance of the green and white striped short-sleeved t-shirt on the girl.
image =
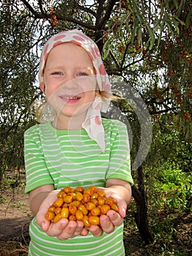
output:
[{"label": "green and white striped short-sleeved t-shirt on the girl", "polygon": [[[126,125],[102,119],[106,150],[89,138],[85,129],[57,130],[50,123],[37,124],[25,132],[26,193],[45,184],[55,189],[104,187],[108,178],[133,184]],[[77,236],[66,241],[47,236],[34,218],[30,225],[28,255],[124,255],[123,225],[100,237]]]}]

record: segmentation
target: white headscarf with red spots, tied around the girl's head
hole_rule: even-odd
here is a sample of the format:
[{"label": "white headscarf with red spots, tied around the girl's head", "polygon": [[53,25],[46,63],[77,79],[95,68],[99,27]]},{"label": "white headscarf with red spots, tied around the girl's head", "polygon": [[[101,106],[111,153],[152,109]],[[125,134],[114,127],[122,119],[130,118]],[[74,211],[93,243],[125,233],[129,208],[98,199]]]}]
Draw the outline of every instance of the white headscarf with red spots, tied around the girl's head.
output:
[{"label": "white headscarf with red spots, tied around the girl's head", "polygon": [[[62,31],[58,34],[53,35],[44,45],[42,50],[40,63],[39,63],[39,83],[40,86],[44,86],[44,68],[47,56],[56,45],[60,45],[64,42],[72,42],[76,45],[80,45],[86,50],[90,57],[93,67],[95,69],[96,81],[99,87],[99,91],[105,91],[111,94],[111,85],[109,76],[104,68],[103,61],[99,48],[93,40],[77,29]],[[90,108],[88,108],[85,121],[82,123],[82,128],[88,132],[91,139],[98,143],[102,151],[105,150],[104,141],[104,127],[101,122],[101,112],[106,113],[110,105],[110,99],[105,98],[102,100],[100,97],[94,99]]]}]

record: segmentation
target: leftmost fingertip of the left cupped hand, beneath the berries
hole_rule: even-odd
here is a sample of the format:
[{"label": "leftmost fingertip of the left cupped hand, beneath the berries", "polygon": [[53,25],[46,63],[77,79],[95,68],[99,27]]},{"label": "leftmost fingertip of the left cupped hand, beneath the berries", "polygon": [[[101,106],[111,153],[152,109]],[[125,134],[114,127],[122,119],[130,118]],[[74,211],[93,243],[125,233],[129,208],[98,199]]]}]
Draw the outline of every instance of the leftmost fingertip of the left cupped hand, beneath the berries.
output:
[{"label": "leftmost fingertip of the left cupped hand, beneath the berries", "polygon": [[58,222],[54,223],[51,222],[50,223],[50,227],[47,230],[47,235],[48,236],[55,236],[58,237],[61,235],[61,233],[63,233],[64,229],[66,228],[66,226],[69,224],[69,220],[68,219],[60,219]]}]

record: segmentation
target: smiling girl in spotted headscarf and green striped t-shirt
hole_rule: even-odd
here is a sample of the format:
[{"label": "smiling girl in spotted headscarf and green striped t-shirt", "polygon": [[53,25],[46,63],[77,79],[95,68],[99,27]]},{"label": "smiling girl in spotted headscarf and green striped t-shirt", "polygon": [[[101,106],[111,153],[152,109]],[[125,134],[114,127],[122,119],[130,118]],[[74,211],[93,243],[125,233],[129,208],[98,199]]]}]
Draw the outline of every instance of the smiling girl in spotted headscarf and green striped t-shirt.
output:
[{"label": "smiling girl in spotted headscarf and green striped t-shirt", "polygon": [[[108,75],[96,44],[81,31],[55,34],[45,44],[39,82],[53,119],[25,132],[26,193],[34,214],[28,255],[125,255],[123,217],[131,200],[126,125],[101,118],[110,104]],[[47,117],[45,108],[38,116]],[[63,187],[102,187],[118,201],[100,226],[45,219]]]}]

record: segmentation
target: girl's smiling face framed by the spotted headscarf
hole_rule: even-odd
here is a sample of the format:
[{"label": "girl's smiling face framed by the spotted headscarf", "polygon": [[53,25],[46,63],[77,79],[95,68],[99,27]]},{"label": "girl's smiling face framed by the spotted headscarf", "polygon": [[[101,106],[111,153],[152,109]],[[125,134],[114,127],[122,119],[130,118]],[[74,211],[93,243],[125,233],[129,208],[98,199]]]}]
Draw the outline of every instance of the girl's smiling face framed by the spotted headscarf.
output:
[{"label": "girl's smiling face framed by the spotted headscarf", "polygon": [[96,78],[88,53],[70,42],[55,46],[44,70],[47,102],[58,116],[82,116],[96,96]]}]

